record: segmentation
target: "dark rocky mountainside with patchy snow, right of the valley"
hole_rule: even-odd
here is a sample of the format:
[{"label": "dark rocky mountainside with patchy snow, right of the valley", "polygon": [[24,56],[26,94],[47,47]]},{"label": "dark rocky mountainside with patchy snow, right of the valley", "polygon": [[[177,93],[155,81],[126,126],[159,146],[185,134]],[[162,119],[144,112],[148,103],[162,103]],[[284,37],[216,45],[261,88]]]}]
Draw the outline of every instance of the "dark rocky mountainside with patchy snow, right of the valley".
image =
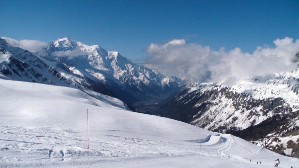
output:
[{"label": "dark rocky mountainside with patchy snow, right of the valley", "polygon": [[156,114],[229,132],[299,157],[299,69],[254,77],[233,86],[189,85],[168,98]]}]

